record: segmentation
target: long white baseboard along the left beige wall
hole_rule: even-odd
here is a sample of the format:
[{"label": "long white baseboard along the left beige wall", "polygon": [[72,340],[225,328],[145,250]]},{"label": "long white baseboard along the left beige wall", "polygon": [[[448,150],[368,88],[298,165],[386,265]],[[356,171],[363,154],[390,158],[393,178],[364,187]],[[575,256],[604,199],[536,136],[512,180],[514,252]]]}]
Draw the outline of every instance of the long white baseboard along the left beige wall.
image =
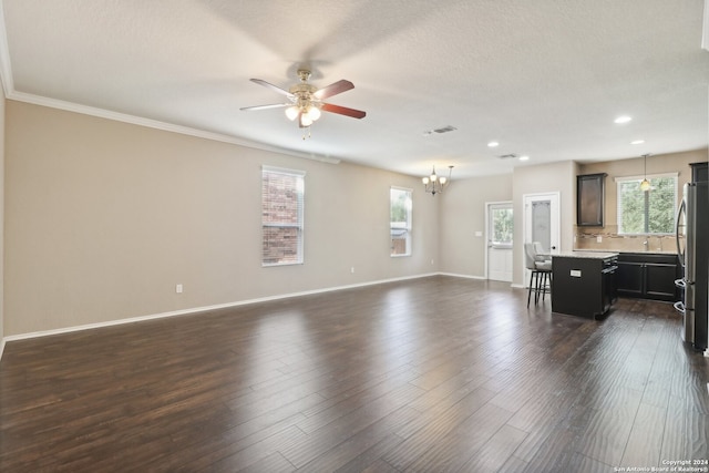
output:
[{"label": "long white baseboard along the left beige wall", "polygon": [[[127,319],[110,320],[107,322],[86,323],[86,325],[82,325],[82,326],[65,327],[65,328],[61,328],[61,329],[41,330],[41,331],[29,332],[29,333],[12,335],[12,336],[4,337],[2,339],[2,349],[4,349],[4,343],[7,341],[27,340],[27,339],[31,339],[31,338],[49,337],[49,336],[52,336],[52,335],[60,335],[60,333],[71,333],[71,332],[74,332],[74,331],[91,330],[91,329],[96,329],[96,328],[102,328],[102,327],[112,327],[112,326],[120,326],[120,325],[124,325],[124,323],[143,322],[143,321],[154,320],[154,319],[164,319],[164,318],[167,318],[167,317],[186,316],[186,315],[191,315],[191,313],[201,313],[201,312],[207,312],[207,311],[210,311],[210,310],[228,309],[228,308],[232,308],[232,307],[247,306],[249,304],[258,304],[258,302],[266,302],[266,301],[270,301],[270,300],[288,299],[288,298],[291,298],[291,297],[310,296],[310,295],[315,295],[315,294],[332,292],[332,291],[336,291],[336,290],[353,289],[353,288],[367,287],[367,286],[376,286],[376,285],[380,285],[380,284],[403,281],[403,280],[408,280],[408,279],[419,279],[419,278],[425,278],[425,277],[438,276],[438,275],[442,275],[442,274],[441,273],[429,273],[429,274],[424,274],[424,275],[407,276],[407,277],[401,277],[401,278],[380,279],[380,280],[376,280],[376,281],[358,282],[358,284],[347,285],[347,286],[329,287],[329,288],[325,288],[325,289],[307,290],[307,291],[302,291],[302,292],[290,292],[290,294],[284,294],[284,295],[278,295],[278,296],[261,297],[261,298],[257,298],[257,299],[248,299],[248,300],[239,300],[239,301],[235,301],[235,302],[217,304],[217,305],[214,305],[214,306],[194,307],[194,308],[191,308],[191,309],[174,310],[174,311],[169,311],[169,312],[153,313],[153,315],[148,315],[148,316],[131,317],[131,318],[127,318]],[[2,358],[2,351],[0,351],[0,359],[1,358]]]}]

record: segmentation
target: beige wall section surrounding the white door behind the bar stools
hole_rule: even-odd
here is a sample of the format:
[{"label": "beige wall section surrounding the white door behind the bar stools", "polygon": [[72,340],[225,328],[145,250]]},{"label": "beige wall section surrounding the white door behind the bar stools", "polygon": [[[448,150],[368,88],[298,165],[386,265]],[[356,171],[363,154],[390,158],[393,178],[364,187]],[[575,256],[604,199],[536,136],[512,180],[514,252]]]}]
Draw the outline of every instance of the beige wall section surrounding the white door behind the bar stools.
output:
[{"label": "beige wall section surrounding the white door behind the bar stools", "polygon": [[576,174],[578,165],[572,161],[536,166],[515,167],[514,189],[514,285],[523,285],[524,276],[524,195],[559,193],[561,245],[559,250],[572,250],[574,246],[574,224],[576,223]]}]

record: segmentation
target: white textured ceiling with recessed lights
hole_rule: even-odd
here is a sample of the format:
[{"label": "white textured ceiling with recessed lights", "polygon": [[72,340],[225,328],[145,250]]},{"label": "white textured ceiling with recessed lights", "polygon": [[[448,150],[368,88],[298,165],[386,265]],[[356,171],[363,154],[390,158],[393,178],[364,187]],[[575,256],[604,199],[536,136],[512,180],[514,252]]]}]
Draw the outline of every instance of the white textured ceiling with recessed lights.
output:
[{"label": "white textured ceiling with recessed lights", "polygon": [[[10,99],[315,158],[453,177],[707,146],[701,0],[3,0]],[[1,33],[1,31],[0,31]],[[0,34],[3,37],[3,34]],[[288,89],[327,100],[302,140]],[[626,114],[633,121],[617,125]],[[425,134],[446,125],[455,132]],[[645,140],[645,144],[630,145]],[[496,148],[490,141],[500,142]],[[499,155],[528,155],[526,163]]]}]

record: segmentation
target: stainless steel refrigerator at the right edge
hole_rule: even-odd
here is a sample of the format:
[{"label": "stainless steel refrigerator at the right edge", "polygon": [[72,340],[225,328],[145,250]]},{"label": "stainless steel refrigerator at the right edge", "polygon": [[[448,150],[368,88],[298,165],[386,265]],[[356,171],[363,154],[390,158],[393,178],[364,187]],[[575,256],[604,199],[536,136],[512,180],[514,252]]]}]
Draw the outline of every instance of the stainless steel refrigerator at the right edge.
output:
[{"label": "stainless steel refrigerator at the right edge", "polygon": [[709,287],[709,193],[708,183],[685,184],[677,214],[677,251],[682,278],[675,281],[682,300],[675,308],[682,313],[682,340],[706,350],[707,289]]}]

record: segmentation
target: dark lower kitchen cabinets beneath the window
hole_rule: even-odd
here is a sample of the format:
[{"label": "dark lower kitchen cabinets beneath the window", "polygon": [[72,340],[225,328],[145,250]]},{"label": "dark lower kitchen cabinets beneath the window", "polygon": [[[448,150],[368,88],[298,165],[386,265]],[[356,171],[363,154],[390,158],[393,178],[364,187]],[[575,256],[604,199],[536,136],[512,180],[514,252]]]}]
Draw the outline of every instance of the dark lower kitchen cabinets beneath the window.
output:
[{"label": "dark lower kitchen cabinets beneath the window", "polygon": [[616,284],[619,297],[676,301],[681,273],[676,255],[621,253]]}]

